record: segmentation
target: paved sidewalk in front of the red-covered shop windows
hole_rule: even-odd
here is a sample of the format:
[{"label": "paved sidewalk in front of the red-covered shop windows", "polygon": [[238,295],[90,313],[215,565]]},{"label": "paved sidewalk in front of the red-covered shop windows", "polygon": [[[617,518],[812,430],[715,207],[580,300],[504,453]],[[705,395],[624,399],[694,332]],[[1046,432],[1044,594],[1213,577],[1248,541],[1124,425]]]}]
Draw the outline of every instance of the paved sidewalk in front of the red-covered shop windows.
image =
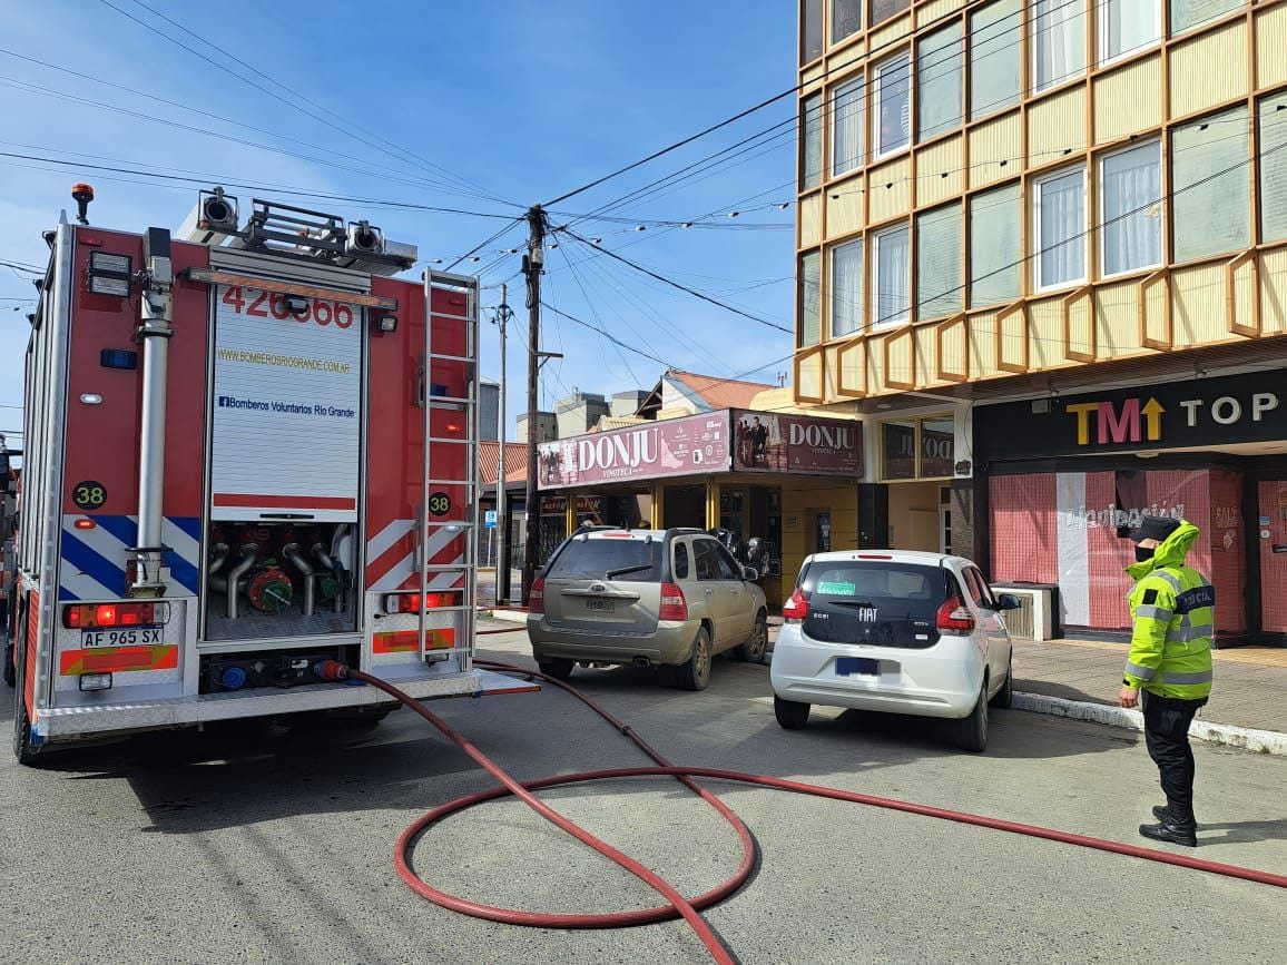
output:
[{"label": "paved sidewalk in front of the red-covered shop windows", "polygon": [[[1014,690],[1117,706],[1125,643],[1014,641]],[[1287,648],[1216,650],[1215,688],[1199,721],[1287,733]]]}]

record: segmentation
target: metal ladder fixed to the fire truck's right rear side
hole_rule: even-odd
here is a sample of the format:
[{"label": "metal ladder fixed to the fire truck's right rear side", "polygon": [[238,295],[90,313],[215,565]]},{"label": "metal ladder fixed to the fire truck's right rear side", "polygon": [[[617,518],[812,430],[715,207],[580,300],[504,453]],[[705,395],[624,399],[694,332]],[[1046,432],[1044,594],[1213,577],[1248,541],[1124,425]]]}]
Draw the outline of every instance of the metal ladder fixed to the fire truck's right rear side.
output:
[{"label": "metal ladder fixed to the fire truck's right rear side", "polygon": [[[434,311],[434,288],[448,288],[458,291],[465,296],[465,308],[461,314]],[[444,271],[425,270],[425,353],[421,359],[421,398],[420,403],[425,409],[425,464],[421,476],[421,502],[417,533],[416,561],[420,570],[420,610],[418,610],[418,647],[420,661],[443,660],[448,655],[456,655],[459,660],[461,670],[468,670],[472,665],[474,639],[477,628],[477,436],[479,436],[479,311],[477,311],[477,279],[467,275],[447,274]],[[465,323],[465,354],[450,355],[434,351],[434,320],[445,319],[453,326]],[[434,383],[434,364],[444,363],[465,367],[466,394],[452,396],[440,391],[440,386]],[[436,410],[450,410],[465,417],[465,432],[462,436],[443,437],[434,435],[432,416]],[[465,446],[465,479],[445,479],[434,473],[434,452],[441,452],[440,446]],[[452,459],[453,464],[459,464]],[[459,488],[465,493],[465,519],[438,519],[430,501],[438,486]],[[452,507],[454,510],[454,507]],[[441,510],[439,510],[441,513]],[[454,512],[450,512],[456,516]],[[450,564],[430,562],[431,553],[426,552],[432,534],[447,529],[458,533],[465,538],[465,557]],[[453,583],[459,584],[461,605],[434,607],[435,614],[456,612],[459,620],[462,639],[456,639],[449,650],[426,647],[426,619],[429,601],[430,574],[454,573],[459,578]],[[454,588],[453,588],[454,589]]]}]

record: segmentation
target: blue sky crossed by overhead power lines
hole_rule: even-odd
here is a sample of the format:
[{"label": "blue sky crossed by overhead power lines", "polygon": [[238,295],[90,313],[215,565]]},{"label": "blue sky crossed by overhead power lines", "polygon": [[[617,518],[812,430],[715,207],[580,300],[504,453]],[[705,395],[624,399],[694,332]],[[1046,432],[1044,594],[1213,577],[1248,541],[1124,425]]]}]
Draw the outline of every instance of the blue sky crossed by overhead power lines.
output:
[{"label": "blue sky crossed by overhead power lines", "polygon": [[[0,0],[0,22],[5,24],[0,50],[94,78],[0,53],[0,152],[181,174],[211,184],[242,180],[519,214],[517,206],[550,201],[795,81],[795,4],[782,0],[439,0],[378,5],[225,0],[216,6],[176,0],[145,3],[344,120],[332,117],[331,126],[308,117],[149,32],[121,12],[223,59],[135,0]],[[378,15],[373,15],[375,10]],[[227,63],[234,73],[277,90],[286,100],[296,100],[236,63]],[[214,117],[109,85],[163,96]],[[57,91],[58,96],[37,89]],[[681,152],[556,205],[560,214],[551,220],[564,224],[569,215],[592,212],[779,124],[792,117],[794,104],[793,98],[786,98]],[[156,124],[103,106],[197,130]],[[327,117],[319,107],[304,107]],[[260,130],[239,127],[238,122]],[[342,131],[354,131],[350,122],[407,153],[362,133],[366,143],[347,136]],[[611,212],[625,223],[583,221],[574,230],[601,238],[605,248],[619,250],[659,274],[790,327],[794,234],[789,225],[794,208],[773,205],[794,197],[794,135],[789,126],[779,133],[762,147],[731,157],[721,169]],[[450,176],[429,165],[445,169]],[[178,226],[201,187],[0,157],[0,260],[44,264],[46,248],[40,232],[57,221],[60,208],[72,207],[68,190],[77,180],[89,180],[97,188],[91,221],[134,230]],[[274,197],[270,190],[232,190],[243,203],[252,193]],[[418,244],[426,260],[450,261],[503,224],[475,216],[277,197],[351,219],[369,216],[389,237]],[[727,217],[735,208],[743,214]],[[712,212],[713,217],[698,220]],[[636,232],[632,219],[696,220],[699,225],[722,226],[651,225]],[[484,247],[481,261],[457,268],[488,269],[485,286],[499,286],[508,278],[510,304],[519,313],[519,331],[511,329],[515,336],[525,333],[526,317],[521,279],[512,277],[517,256],[506,256],[505,251],[519,246],[525,230],[510,230]],[[559,241],[560,247],[548,253],[544,300],[671,364],[732,376],[790,353],[789,335],[667,288],[566,237]],[[12,407],[22,399],[27,338],[23,315],[30,302],[13,299],[33,295],[24,279],[0,268],[0,299],[9,299],[0,301],[0,405]],[[498,301],[499,288],[488,288],[484,305]],[[12,311],[14,306],[22,310]],[[483,369],[494,376],[499,368],[495,328],[484,326],[483,337]],[[544,403],[573,389],[613,392],[651,386],[662,368],[553,315],[547,315],[542,347],[566,355],[564,362],[547,367]],[[511,434],[512,416],[524,405],[524,346],[520,337],[512,337]],[[788,368],[775,362],[758,377],[775,381],[777,372]],[[0,408],[0,431],[18,428],[19,419],[19,410]],[[10,444],[15,441],[10,436]]]}]

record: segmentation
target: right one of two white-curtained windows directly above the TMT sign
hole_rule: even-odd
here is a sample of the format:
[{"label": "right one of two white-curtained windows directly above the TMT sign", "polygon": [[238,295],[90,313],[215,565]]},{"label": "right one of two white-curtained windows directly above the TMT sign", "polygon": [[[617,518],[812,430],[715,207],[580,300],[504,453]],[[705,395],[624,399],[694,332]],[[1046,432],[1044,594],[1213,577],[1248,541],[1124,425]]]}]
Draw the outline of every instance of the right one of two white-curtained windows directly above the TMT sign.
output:
[{"label": "right one of two white-curtained windows directly above the TMT sign", "polygon": [[1099,223],[1106,275],[1162,264],[1162,144],[1099,162]]}]

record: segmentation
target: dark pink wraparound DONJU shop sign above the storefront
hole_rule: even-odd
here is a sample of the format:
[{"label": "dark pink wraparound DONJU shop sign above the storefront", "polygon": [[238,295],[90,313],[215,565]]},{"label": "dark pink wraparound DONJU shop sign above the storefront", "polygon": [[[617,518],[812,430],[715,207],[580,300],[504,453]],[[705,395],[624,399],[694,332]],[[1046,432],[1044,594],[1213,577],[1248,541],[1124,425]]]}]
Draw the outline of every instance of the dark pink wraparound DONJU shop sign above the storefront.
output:
[{"label": "dark pink wraparound DONJU shop sign above the storefront", "polygon": [[543,443],[537,485],[560,489],[716,472],[857,476],[856,421],[721,409]]}]

